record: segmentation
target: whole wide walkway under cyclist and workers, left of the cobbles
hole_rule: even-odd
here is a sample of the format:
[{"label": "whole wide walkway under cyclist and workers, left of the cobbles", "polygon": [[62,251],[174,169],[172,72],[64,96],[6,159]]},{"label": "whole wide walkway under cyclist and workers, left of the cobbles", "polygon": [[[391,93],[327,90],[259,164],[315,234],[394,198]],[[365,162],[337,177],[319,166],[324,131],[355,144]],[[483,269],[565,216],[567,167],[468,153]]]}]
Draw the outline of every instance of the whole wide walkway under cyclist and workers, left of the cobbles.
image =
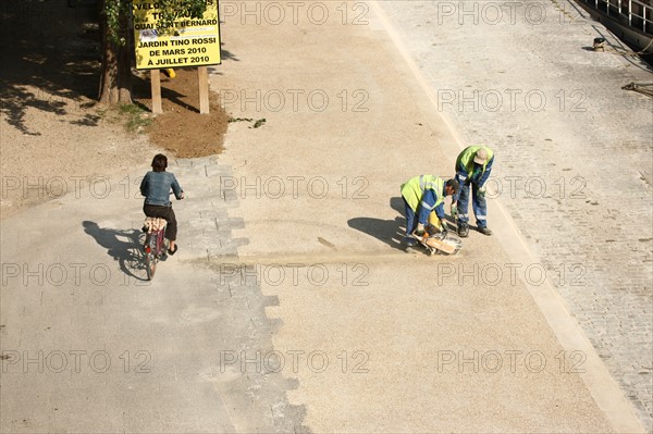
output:
[{"label": "whole wide walkway under cyclist and workers, left of the cobbles", "polygon": [[171,164],[188,199],[155,282],[147,168],[3,221],[2,431],[642,432],[505,197],[459,256],[401,249],[398,185],[451,174],[464,129],[383,16],[279,4],[221,3],[211,87],[252,121]]}]

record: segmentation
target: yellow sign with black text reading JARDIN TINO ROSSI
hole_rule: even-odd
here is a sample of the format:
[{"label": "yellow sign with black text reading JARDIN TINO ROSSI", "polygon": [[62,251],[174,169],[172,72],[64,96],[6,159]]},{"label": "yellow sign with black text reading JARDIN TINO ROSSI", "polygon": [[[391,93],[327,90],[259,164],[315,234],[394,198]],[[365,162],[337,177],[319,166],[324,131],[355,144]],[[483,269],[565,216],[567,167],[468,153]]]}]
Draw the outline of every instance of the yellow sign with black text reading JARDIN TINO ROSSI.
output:
[{"label": "yellow sign with black text reading JARDIN TINO ROSSI", "polygon": [[201,18],[181,17],[165,33],[157,30],[157,0],[133,0],[132,4],[137,70],[221,63],[218,0],[207,0]]}]

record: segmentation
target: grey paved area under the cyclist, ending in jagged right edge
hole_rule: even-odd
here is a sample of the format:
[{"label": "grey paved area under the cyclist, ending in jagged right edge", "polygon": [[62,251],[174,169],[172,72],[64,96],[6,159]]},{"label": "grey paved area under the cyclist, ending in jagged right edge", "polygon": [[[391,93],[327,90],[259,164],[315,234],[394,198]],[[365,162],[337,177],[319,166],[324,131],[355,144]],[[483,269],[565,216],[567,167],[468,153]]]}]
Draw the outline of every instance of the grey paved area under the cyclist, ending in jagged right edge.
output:
[{"label": "grey paved area under the cyclist, ending in jagged right edge", "polygon": [[188,196],[174,201],[180,252],[151,282],[143,198],[125,183],[145,170],[115,177],[106,197],[83,188],[30,209],[32,230],[3,222],[0,431],[303,432],[305,409],[286,398],[296,382],[261,361],[278,300],[209,262],[245,243],[232,236],[237,201],[220,191],[230,168],[170,161]]}]

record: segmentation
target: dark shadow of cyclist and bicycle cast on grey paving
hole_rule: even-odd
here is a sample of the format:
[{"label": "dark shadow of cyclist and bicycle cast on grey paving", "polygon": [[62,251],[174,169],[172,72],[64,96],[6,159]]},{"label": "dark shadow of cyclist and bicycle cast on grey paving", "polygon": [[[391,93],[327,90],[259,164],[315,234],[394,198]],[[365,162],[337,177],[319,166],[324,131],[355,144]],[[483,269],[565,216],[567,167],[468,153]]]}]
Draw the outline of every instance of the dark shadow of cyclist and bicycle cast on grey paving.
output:
[{"label": "dark shadow of cyclist and bicycle cast on grey paving", "polygon": [[107,253],[118,261],[123,273],[139,281],[147,281],[143,260],[145,234],[139,230],[102,228],[95,222],[84,221],[84,232],[94,237]]}]

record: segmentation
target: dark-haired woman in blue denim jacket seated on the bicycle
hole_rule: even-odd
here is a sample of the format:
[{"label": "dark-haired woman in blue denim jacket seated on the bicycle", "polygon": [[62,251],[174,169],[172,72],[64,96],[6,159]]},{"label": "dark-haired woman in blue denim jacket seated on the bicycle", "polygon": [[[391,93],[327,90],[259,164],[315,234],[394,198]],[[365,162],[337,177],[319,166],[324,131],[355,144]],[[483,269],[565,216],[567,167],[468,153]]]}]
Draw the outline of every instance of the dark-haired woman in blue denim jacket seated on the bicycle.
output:
[{"label": "dark-haired woman in blue denim jacket seated on the bicycle", "polygon": [[170,201],[170,189],[177,200],[184,198],[184,190],[177,183],[174,174],[165,172],[168,158],[158,153],[152,160],[152,171],[148,172],[140,183],[140,194],[145,196],[143,212],[150,218],[161,218],[168,222],[165,238],[170,241],[168,253],[174,255],[178,250],[176,240],[176,219]]}]

